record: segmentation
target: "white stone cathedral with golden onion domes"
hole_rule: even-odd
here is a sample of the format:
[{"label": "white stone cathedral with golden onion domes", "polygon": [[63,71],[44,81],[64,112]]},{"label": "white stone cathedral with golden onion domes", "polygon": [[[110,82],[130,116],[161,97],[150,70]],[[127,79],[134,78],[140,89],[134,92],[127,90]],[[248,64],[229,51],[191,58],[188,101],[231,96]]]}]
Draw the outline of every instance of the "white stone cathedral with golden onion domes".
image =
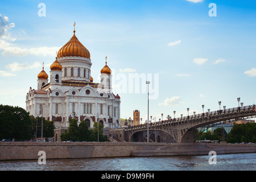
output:
[{"label": "white stone cathedral with golden onion domes", "polygon": [[[120,97],[112,92],[112,71],[107,65],[101,69],[100,83],[93,82],[90,52],[75,35],[56,53],[49,76],[38,74],[38,88],[30,88],[26,96],[26,111],[34,117],[53,121],[56,128],[68,127],[69,118],[78,123],[98,121],[104,128],[121,127]],[[49,79],[49,80],[48,80]]]}]

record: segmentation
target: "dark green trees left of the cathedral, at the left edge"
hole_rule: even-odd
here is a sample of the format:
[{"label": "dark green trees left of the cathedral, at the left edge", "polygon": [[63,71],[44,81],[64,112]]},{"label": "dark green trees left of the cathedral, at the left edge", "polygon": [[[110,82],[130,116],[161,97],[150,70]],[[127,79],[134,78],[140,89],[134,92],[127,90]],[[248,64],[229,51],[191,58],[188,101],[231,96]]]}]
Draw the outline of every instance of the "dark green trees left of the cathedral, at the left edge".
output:
[{"label": "dark green trees left of the cathedral, at the left edge", "polygon": [[43,137],[53,137],[53,121],[42,117],[35,118],[22,107],[0,105],[0,139],[31,140],[36,138],[35,134],[41,138],[42,120]]}]

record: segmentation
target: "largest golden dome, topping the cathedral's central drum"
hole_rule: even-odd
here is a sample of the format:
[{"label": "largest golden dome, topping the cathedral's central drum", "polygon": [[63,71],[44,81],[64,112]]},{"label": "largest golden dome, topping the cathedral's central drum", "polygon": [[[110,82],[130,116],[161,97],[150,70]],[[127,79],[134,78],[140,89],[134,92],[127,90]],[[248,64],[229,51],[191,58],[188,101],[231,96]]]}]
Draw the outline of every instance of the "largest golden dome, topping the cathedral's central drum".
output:
[{"label": "largest golden dome, topping the cathedral's central drum", "polygon": [[74,35],[67,44],[60,48],[59,52],[57,53],[57,57],[77,56],[90,59],[90,52],[76,38],[76,31],[74,30],[73,32]]}]

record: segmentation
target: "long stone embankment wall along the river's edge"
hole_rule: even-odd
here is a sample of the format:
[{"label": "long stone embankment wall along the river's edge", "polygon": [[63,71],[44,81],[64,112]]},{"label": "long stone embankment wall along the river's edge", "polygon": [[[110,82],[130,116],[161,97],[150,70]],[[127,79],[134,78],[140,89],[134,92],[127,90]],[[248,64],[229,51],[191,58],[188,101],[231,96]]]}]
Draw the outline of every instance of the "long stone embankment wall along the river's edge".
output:
[{"label": "long stone embankment wall along the river's edge", "polygon": [[144,143],[144,142],[0,142],[0,160],[174,156],[256,152],[256,144]]}]

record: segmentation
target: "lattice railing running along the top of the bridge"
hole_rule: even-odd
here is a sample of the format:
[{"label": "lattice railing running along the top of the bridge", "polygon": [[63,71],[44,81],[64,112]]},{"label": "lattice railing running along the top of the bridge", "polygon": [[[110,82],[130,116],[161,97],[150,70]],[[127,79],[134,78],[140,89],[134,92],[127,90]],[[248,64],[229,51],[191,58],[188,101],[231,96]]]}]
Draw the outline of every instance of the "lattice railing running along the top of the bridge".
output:
[{"label": "lattice railing running along the top of the bridge", "polygon": [[[187,120],[189,118],[200,118],[200,117],[205,117],[205,116],[212,116],[212,115],[216,115],[216,114],[223,114],[223,113],[230,113],[230,112],[236,112],[236,111],[241,111],[241,110],[250,110],[250,109],[255,109],[255,105],[249,105],[249,106],[241,106],[241,107],[233,107],[233,108],[229,108],[229,109],[225,109],[225,110],[216,110],[216,111],[210,111],[205,112],[205,113],[200,113],[200,114],[193,114],[193,115],[187,115],[184,117],[179,117],[179,118],[171,118],[169,120],[164,120],[164,121],[158,121],[158,122],[150,122],[149,126],[154,126],[154,125],[159,125],[162,123],[172,123],[172,122],[180,122],[183,120]],[[141,124],[141,125],[137,125],[137,126],[128,126],[125,129],[136,129],[136,128],[142,128],[142,127],[147,127],[147,123]]]}]

